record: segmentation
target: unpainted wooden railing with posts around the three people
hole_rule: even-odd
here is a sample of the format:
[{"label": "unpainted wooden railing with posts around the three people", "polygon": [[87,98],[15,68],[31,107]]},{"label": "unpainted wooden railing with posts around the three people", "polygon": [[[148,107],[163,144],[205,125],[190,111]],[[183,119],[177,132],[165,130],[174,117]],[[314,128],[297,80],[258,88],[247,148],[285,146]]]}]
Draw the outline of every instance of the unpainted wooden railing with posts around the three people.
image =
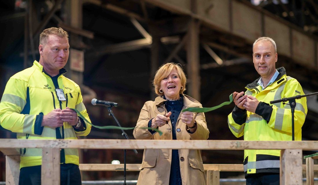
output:
[{"label": "unpainted wooden railing with posts around the three people", "polygon": [[[199,149],[199,150],[245,150],[281,149],[280,184],[302,184],[302,150],[316,150],[318,141],[233,141],[233,140],[117,140],[117,139],[79,139],[79,140],[18,140],[0,139],[0,151],[6,155],[6,183],[18,184],[20,153],[15,148],[42,148],[41,181],[45,185],[59,185],[60,149]],[[138,167],[129,166],[127,169]],[[210,165],[210,164],[209,164]],[[211,171],[222,170],[227,165],[205,165]],[[108,167],[107,167],[108,166]],[[114,166],[105,164],[82,164],[82,170],[112,170]],[[227,169],[228,166],[226,167]],[[242,170],[242,165],[234,165],[234,171]],[[317,166],[314,166],[314,170]],[[120,169],[118,169],[120,170]],[[317,170],[317,169],[316,169]],[[242,170],[243,171],[243,170]],[[209,174],[209,173],[208,173]],[[208,176],[209,180],[209,176]]]}]

